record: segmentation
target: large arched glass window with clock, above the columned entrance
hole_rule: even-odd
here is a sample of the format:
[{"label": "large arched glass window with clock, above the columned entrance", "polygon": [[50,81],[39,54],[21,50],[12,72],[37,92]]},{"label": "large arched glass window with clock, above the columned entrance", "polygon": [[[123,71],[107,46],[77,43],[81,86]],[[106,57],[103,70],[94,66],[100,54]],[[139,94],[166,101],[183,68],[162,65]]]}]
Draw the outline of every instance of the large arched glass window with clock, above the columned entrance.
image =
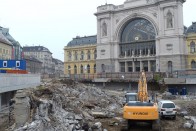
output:
[{"label": "large arched glass window with clock, above the columned entrance", "polygon": [[133,19],[122,30],[120,56],[155,55],[155,37],[155,29],[148,20]]}]

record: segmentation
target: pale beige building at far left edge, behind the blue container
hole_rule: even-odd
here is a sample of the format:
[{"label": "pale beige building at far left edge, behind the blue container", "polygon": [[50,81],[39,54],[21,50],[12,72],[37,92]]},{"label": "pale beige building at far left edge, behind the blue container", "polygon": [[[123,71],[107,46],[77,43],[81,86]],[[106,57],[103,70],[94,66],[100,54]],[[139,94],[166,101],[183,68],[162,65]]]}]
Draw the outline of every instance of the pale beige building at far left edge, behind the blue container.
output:
[{"label": "pale beige building at far left edge, behind the blue container", "polygon": [[0,59],[10,60],[12,58],[12,43],[0,32]]}]

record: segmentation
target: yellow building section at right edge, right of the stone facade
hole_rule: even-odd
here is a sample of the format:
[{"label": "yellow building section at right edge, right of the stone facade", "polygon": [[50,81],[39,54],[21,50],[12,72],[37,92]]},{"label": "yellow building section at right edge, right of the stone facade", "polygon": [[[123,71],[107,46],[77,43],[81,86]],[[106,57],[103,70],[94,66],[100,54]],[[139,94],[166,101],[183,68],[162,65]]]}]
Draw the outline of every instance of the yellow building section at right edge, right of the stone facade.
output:
[{"label": "yellow building section at right edge, right of the stone facade", "polygon": [[186,31],[186,45],[188,50],[187,69],[196,69],[196,22]]}]

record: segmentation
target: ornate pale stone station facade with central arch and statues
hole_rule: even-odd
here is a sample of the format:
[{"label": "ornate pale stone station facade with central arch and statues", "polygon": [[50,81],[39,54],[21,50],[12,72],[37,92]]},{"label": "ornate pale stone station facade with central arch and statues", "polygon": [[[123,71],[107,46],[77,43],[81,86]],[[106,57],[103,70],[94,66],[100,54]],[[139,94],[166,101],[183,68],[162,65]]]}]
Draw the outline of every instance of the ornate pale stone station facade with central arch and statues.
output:
[{"label": "ornate pale stone station facade with central arch and statues", "polygon": [[185,0],[126,0],[99,6],[97,72],[186,68]]}]

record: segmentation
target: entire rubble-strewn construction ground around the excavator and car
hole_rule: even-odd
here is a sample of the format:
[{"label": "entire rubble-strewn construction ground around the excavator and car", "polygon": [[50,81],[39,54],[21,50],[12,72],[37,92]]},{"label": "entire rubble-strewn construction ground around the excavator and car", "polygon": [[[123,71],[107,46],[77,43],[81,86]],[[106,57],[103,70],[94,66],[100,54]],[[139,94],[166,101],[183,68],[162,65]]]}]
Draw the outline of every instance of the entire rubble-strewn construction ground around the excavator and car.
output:
[{"label": "entire rubble-strewn construction ground around the excavator and car", "polygon": [[[139,80],[140,81],[140,80]],[[18,90],[0,114],[0,131],[152,131],[148,122],[127,127],[123,107],[126,86],[104,86],[72,79],[45,79],[40,86]],[[123,82],[121,82],[123,85]],[[159,119],[160,131],[196,130],[196,96],[168,92],[164,83],[147,82],[147,99],[156,94],[157,101],[171,100],[176,104],[176,119]],[[156,85],[156,88],[152,88]],[[139,88],[139,86],[138,86]],[[139,92],[135,91],[135,92]],[[143,107],[139,107],[141,109]]]}]

